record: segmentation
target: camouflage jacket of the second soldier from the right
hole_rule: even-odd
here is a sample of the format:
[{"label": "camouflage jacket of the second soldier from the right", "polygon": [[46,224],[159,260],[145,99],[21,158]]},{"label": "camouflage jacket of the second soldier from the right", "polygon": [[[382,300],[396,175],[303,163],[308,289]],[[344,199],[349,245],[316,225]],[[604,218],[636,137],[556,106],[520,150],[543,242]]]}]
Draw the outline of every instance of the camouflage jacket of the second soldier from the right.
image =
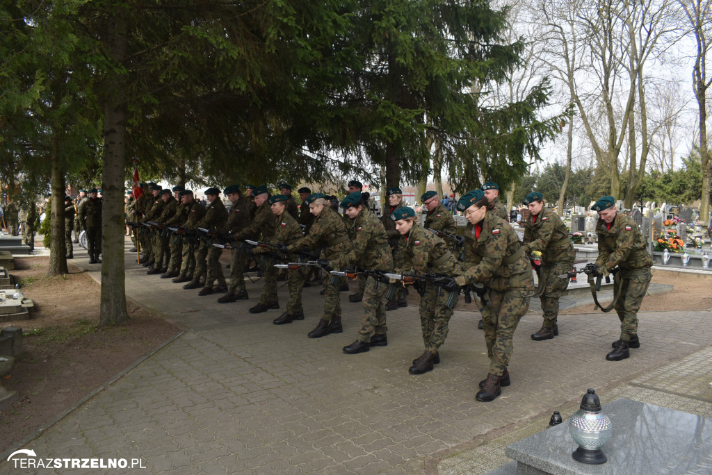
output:
[{"label": "camouflage jacket of the second soldier from the right", "polygon": [[543,265],[553,265],[556,262],[573,262],[574,246],[569,239],[566,225],[552,210],[542,208],[536,222],[534,216],[529,216],[524,223],[524,252],[542,253]]}]

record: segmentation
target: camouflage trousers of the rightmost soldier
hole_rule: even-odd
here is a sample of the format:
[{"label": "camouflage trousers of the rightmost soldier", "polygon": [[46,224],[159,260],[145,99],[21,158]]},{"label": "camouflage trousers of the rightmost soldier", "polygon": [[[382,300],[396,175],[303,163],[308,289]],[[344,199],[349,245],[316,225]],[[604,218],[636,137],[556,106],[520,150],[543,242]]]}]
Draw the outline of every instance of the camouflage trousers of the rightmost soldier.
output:
[{"label": "camouflage trousers of the rightmost soldier", "polygon": [[648,292],[652,277],[650,267],[643,267],[619,270],[613,278],[614,288],[619,280],[623,279],[620,297],[614,308],[621,321],[621,339],[624,341],[629,341],[631,336],[638,333],[638,310],[643,303],[643,297]]}]

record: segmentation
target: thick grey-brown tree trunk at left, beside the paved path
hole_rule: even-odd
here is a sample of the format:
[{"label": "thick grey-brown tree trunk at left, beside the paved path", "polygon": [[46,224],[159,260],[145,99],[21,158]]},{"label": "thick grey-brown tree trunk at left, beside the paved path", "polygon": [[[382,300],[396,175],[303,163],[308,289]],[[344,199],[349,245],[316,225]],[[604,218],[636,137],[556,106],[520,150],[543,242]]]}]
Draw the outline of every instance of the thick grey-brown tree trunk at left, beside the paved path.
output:
[{"label": "thick grey-brown tree trunk at left, beside the paved path", "polygon": [[[126,13],[117,6],[108,32],[107,50],[117,65],[127,58]],[[102,266],[100,326],[128,319],[124,282],[124,171],[126,155],[126,76],[109,75],[104,122],[104,169],[102,176]]]}]

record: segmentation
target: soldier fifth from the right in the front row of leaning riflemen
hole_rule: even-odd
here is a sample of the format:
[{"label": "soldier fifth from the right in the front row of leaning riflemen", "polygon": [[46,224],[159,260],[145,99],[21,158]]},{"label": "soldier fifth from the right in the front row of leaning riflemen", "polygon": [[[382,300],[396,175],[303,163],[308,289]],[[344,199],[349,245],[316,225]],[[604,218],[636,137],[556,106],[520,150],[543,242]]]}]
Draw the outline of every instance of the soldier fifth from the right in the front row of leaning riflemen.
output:
[{"label": "soldier fifth from the right in the front row of leaning riflemen", "polygon": [[[279,245],[285,249],[288,245],[294,244],[302,237],[302,230],[297,220],[287,211],[289,197],[286,195],[271,196],[268,200],[274,216],[276,216],[276,230],[268,242]],[[252,252],[255,255],[270,251],[269,248],[255,247]],[[294,261],[293,255],[286,255],[288,261]],[[272,321],[275,325],[290,324],[293,320],[304,319],[304,309],[302,306],[302,288],[304,287],[304,277],[301,269],[288,269],[287,287],[289,287],[289,300],[283,314]]]}]

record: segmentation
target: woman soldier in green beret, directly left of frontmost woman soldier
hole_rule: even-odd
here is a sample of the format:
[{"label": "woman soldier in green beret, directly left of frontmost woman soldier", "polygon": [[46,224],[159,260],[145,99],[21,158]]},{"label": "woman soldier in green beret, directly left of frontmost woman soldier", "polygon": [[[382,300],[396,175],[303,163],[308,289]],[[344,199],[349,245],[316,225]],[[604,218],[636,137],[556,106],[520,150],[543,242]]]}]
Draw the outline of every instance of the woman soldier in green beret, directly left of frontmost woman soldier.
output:
[{"label": "woman soldier in green beret, directly left of frontmost woman soldier", "polygon": [[[413,361],[408,372],[414,375],[427,373],[433,363],[440,363],[438,348],[445,343],[448,322],[452,309],[446,305],[450,292],[459,289],[454,277],[463,279],[462,270],[444,240],[426,231],[417,224],[415,211],[403,206],[391,213],[391,219],[401,239],[399,250],[404,256],[403,264],[396,269],[399,274],[448,274],[449,282],[441,286],[434,282],[419,281],[422,289],[420,299],[420,324],[423,331],[425,351]],[[407,277],[406,277],[407,278]]]}]

